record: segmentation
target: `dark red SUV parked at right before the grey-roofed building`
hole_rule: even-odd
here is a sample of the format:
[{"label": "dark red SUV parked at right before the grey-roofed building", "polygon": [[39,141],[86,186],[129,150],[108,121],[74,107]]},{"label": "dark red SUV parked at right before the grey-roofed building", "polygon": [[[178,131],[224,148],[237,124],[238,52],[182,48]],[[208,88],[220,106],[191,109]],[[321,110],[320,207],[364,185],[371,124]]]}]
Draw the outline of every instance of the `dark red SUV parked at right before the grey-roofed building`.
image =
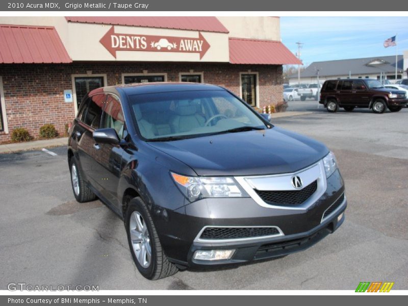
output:
[{"label": "dark red SUV parked at right before the grey-roofed building", "polygon": [[388,108],[400,111],[408,102],[405,91],[389,89],[374,79],[327,80],[320,91],[320,104],[328,112],[339,107],[351,112],[355,107],[369,108],[381,114]]}]

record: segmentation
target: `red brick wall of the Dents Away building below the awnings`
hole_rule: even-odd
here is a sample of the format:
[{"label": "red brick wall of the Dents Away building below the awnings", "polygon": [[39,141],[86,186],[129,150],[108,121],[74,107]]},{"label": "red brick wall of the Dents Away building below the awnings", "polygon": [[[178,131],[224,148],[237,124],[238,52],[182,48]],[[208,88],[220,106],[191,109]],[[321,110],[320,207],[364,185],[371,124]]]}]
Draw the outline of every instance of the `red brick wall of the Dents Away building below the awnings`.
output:
[{"label": "red brick wall of the Dents Away building below the awnings", "polygon": [[24,127],[37,138],[39,127],[53,123],[58,132],[74,117],[73,103],[65,103],[63,91],[72,89],[71,74],[107,74],[107,85],[121,83],[121,73],[167,73],[167,81],[179,81],[179,72],[203,72],[205,83],[224,86],[240,94],[240,72],[259,73],[260,107],[282,101],[282,66],[232,65],[228,63],[73,63],[1,64],[0,75],[10,134],[0,132],[0,143],[9,141],[14,127]]}]

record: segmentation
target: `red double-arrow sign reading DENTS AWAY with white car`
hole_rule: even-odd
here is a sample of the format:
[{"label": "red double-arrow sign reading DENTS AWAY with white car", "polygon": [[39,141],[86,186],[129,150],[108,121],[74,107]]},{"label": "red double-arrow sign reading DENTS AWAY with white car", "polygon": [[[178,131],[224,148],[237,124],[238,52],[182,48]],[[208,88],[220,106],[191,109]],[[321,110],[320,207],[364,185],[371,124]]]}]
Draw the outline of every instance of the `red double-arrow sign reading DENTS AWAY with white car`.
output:
[{"label": "red double-arrow sign reading DENTS AWAY with white car", "polygon": [[178,52],[197,53],[200,59],[210,48],[208,41],[198,32],[198,38],[138,35],[115,33],[114,27],[102,37],[99,42],[116,58],[117,51],[148,51],[148,52]]}]

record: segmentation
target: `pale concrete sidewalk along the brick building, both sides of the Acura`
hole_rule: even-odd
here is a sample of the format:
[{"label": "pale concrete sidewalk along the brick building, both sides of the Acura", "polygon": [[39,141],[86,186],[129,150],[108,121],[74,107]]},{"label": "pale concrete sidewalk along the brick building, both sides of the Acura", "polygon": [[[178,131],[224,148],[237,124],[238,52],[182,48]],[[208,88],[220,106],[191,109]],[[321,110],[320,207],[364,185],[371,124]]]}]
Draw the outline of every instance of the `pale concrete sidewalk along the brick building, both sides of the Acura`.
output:
[{"label": "pale concrete sidewalk along the brick building, both sides of the Acura", "polygon": [[[275,118],[290,117],[290,116],[300,116],[300,115],[309,115],[313,112],[284,112],[284,113],[273,113],[272,114],[272,123]],[[27,151],[42,149],[48,147],[63,146],[68,144],[68,138],[55,138],[47,140],[35,140],[28,142],[19,142],[19,143],[9,143],[0,145],[0,154],[1,153],[11,153],[17,151]]]}]

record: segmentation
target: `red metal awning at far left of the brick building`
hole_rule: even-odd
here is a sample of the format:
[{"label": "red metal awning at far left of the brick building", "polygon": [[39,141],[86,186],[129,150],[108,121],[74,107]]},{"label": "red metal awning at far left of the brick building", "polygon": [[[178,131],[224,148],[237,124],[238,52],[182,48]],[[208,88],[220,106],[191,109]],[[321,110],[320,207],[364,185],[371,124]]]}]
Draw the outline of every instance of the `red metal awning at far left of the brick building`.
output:
[{"label": "red metal awning at far left of the brick building", "polygon": [[54,27],[0,24],[0,63],[72,63]]}]

